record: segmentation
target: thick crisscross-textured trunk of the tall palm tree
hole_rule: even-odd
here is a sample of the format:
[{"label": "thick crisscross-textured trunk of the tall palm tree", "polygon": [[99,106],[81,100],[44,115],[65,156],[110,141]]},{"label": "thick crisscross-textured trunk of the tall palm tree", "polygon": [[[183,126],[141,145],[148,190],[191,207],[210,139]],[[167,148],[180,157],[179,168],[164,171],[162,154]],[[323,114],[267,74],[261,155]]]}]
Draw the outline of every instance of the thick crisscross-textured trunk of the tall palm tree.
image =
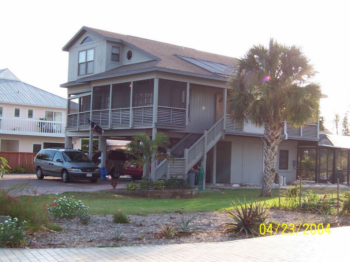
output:
[{"label": "thick crisscross-textured trunk of the tall palm tree", "polygon": [[280,133],[282,131],[281,124],[265,123],[263,134],[263,184],[261,189],[262,197],[270,197],[272,185],[276,173],[276,159],[278,145],[281,141]]}]

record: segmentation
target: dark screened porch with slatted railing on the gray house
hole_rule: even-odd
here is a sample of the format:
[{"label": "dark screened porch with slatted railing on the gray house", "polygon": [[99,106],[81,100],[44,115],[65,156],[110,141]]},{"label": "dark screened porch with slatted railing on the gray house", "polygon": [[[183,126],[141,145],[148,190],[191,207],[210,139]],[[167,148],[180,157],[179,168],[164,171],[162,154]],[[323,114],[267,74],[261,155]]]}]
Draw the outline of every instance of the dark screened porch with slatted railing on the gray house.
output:
[{"label": "dark screened porch with slatted railing on the gray house", "polygon": [[67,128],[88,128],[88,119],[103,129],[184,128],[187,89],[158,78],[93,86],[68,97]]}]

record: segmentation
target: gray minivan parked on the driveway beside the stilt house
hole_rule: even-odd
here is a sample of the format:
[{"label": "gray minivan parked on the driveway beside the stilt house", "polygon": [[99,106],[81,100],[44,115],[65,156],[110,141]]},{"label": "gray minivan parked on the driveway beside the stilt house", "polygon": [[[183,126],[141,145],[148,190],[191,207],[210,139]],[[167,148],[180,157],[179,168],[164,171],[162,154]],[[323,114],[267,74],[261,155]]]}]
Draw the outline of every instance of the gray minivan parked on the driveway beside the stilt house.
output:
[{"label": "gray minivan parked on the driveway beside the stilt house", "polygon": [[37,179],[60,177],[64,183],[73,179],[95,183],[100,177],[99,168],[84,153],[73,149],[42,149],[34,158],[33,169]]}]

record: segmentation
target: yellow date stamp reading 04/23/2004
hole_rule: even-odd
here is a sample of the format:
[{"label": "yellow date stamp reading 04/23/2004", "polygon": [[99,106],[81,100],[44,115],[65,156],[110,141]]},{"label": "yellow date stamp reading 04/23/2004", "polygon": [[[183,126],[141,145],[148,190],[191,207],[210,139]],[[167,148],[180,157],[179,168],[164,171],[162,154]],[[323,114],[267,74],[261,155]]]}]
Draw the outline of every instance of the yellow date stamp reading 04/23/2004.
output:
[{"label": "yellow date stamp reading 04/23/2004", "polygon": [[325,227],[323,224],[299,224],[296,225],[293,223],[287,224],[260,224],[260,235],[276,235],[277,231],[281,230],[281,235],[322,235],[330,234],[330,225],[327,224]]}]

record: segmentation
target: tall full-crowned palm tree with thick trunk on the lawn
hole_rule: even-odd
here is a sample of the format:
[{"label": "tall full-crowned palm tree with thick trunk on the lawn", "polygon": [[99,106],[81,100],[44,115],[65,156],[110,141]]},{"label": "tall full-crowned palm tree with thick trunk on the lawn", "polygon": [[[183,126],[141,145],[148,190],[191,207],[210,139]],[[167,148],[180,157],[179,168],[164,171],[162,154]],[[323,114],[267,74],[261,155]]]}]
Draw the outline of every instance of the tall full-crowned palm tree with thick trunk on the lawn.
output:
[{"label": "tall full-crowned palm tree with thick trunk on the lawn", "polygon": [[270,39],[268,48],[253,46],[229,79],[233,119],[264,127],[261,196],[271,196],[284,121],[300,126],[317,118],[321,92],[308,82],[315,71],[296,46]]}]

